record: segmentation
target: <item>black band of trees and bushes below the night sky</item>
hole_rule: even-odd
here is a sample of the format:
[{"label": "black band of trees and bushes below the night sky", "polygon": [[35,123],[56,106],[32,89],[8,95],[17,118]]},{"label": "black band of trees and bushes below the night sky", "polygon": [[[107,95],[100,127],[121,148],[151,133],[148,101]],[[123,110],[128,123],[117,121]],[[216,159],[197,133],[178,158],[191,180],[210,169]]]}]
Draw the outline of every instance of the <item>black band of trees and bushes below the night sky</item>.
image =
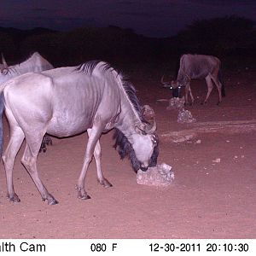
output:
[{"label": "black band of trees and bushes below the night sky", "polygon": [[118,26],[80,27],[69,32],[0,27],[0,52],[9,64],[34,51],[55,67],[101,59],[128,72],[150,74],[152,70],[175,72],[185,53],[216,55],[224,67],[255,67],[256,31],[253,20],[239,16],[195,20],[169,38],[147,38]]}]

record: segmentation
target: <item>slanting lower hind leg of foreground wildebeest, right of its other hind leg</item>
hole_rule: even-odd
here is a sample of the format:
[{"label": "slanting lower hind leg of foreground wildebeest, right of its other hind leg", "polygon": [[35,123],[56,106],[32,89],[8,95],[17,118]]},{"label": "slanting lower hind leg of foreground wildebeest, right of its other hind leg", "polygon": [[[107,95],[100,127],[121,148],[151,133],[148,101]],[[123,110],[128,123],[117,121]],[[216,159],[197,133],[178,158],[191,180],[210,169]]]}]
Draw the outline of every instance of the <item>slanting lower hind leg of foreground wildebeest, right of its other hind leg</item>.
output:
[{"label": "slanting lower hind leg of foreground wildebeest, right of its other hind leg", "polygon": [[[39,148],[38,148],[39,149]],[[50,195],[48,190],[44,187],[39,175],[38,175],[38,168],[37,168],[37,155],[38,150],[36,150],[34,154],[32,154],[31,148],[26,144],[25,152],[22,156],[21,162],[26,167],[26,171],[32,177],[33,182],[36,184],[38,191],[40,192],[42,199],[44,201],[48,201],[49,205],[55,205],[58,201],[55,200],[53,195]]]}]

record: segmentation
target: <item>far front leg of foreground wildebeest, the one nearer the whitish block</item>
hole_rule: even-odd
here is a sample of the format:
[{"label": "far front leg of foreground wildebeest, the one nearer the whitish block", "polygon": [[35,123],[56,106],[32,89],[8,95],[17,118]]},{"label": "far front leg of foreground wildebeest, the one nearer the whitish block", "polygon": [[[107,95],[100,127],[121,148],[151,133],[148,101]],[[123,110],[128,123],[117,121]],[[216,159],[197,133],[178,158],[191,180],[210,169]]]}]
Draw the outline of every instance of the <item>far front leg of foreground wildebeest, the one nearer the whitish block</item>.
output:
[{"label": "far front leg of foreground wildebeest, the one nearer the whitish block", "polygon": [[[88,129],[87,133],[88,133],[88,136],[90,137],[91,129]],[[108,179],[105,178],[102,173],[102,164],[101,164],[102,149],[101,149],[101,144],[99,140],[96,143],[96,147],[94,149],[93,155],[96,160],[97,177],[98,177],[99,183],[105,188],[112,187],[112,184],[108,182]]]}]

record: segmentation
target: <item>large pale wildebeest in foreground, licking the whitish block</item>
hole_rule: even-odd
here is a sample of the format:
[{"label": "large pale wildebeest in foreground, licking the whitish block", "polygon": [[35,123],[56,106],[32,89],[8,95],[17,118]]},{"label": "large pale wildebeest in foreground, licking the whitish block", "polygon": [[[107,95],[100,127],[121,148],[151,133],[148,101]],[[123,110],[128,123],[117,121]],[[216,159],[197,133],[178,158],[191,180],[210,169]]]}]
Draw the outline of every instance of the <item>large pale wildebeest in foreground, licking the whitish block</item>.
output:
[{"label": "large pale wildebeest in foreground, licking the whitish block", "polygon": [[85,175],[94,155],[99,183],[110,187],[101,167],[99,138],[115,128],[115,148],[121,158],[128,156],[133,169],[146,171],[158,156],[156,124],[143,121],[134,87],[108,63],[86,62],[79,67],[60,67],[42,73],[27,73],[3,84],[5,113],[10,139],[3,154],[10,201],[20,201],[13,186],[15,156],[24,138],[26,148],[21,162],[31,175],[44,201],[57,203],[38,176],[37,157],[47,132],[69,137],[88,132],[84,164],[77,189],[80,199],[89,199],[84,188]]}]

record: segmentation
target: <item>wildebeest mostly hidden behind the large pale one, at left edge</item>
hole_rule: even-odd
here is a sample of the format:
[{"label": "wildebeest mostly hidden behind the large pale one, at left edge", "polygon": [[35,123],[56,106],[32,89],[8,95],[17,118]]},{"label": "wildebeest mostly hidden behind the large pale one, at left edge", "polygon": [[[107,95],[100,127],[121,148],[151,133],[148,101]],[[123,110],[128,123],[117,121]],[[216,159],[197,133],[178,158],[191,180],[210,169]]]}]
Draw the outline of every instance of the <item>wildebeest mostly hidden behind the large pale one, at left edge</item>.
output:
[{"label": "wildebeest mostly hidden behind the large pale one, at left edge", "polygon": [[[44,70],[54,68],[49,61],[45,60],[38,52],[33,53],[26,61],[16,64],[14,66],[8,66],[3,54],[2,54],[2,64],[0,64],[0,88],[1,84],[20,76],[24,73],[29,72],[41,72]],[[3,97],[0,96],[0,155],[3,151]],[[40,151],[46,150],[46,144],[51,144],[51,139],[49,136],[45,136]]]}]

